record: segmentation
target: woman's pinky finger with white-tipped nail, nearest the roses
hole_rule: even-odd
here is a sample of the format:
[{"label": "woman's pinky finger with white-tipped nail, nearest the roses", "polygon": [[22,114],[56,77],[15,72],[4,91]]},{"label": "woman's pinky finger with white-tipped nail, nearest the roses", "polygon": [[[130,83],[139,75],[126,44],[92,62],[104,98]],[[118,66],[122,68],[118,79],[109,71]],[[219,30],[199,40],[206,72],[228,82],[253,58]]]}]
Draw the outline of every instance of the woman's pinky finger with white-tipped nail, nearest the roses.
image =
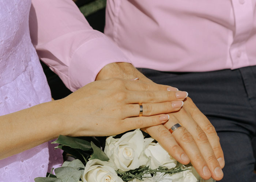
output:
[{"label": "woman's pinky finger with white-tipped nail, nearest the roses", "polygon": [[134,130],[137,128],[145,128],[150,126],[156,126],[158,124],[163,124],[169,119],[169,115],[160,114],[154,116],[139,116],[133,118],[123,119],[123,127],[127,130]]}]

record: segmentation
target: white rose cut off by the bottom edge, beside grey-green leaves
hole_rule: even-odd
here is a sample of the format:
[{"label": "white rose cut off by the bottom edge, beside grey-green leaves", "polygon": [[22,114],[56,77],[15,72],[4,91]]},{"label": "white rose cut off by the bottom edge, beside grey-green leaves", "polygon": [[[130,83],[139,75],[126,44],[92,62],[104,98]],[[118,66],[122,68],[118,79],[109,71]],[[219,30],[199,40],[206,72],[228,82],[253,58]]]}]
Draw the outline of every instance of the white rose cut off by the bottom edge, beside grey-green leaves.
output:
[{"label": "white rose cut off by the bottom edge, beside grey-green leaves", "polygon": [[86,163],[82,182],[123,182],[109,162],[93,159]]}]

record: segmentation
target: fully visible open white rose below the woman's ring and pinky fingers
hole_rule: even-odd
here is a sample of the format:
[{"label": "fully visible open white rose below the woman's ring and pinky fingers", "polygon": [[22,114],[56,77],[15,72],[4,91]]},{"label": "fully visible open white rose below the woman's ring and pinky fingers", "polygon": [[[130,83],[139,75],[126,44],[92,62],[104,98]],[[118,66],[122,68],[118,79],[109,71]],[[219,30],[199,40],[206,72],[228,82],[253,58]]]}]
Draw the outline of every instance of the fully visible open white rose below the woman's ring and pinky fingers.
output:
[{"label": "fully visible open white rose below the woman's ring and pinky fingers", "polygon": [[118,139],[108,137],[104,152],[116,170],[129,171],[146,164],[143,156],[143,143],[143,134],[137,129]]}]

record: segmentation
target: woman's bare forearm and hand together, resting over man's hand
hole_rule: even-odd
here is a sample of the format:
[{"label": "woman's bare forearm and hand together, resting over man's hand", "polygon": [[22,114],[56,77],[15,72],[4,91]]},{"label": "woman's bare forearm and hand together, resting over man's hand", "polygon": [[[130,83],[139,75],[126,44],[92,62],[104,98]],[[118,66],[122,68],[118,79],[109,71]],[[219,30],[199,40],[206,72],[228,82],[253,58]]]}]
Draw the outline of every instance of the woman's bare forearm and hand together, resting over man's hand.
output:
[{"label": "woman's bare forearm and hand together, resting over man's hand", "polygon": [[[108,136],[166,122],[186,92],[124,79],[92,82],[67,98],[0,116],[0,159],[61,135]],[[143,116],[139,104],[143,103]]]}]

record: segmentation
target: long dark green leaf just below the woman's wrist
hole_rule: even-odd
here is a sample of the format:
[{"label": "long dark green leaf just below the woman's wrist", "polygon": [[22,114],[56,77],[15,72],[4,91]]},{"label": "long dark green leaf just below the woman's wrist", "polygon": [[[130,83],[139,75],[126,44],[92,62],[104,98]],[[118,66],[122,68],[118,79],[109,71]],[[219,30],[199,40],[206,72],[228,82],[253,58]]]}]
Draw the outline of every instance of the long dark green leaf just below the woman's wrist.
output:
[{"label": "long dark green leaf just below the woman's wrist", "polygon": [[81,150],[90,150],[91,149],[91,145],[89,142],[84,141],[79,138],[68,137],[68,136],[64,136],[64,135],[60,135],[59,138],[52,143],[59,143],[61,145],[69,146],[74,149],[81,149]]}]

